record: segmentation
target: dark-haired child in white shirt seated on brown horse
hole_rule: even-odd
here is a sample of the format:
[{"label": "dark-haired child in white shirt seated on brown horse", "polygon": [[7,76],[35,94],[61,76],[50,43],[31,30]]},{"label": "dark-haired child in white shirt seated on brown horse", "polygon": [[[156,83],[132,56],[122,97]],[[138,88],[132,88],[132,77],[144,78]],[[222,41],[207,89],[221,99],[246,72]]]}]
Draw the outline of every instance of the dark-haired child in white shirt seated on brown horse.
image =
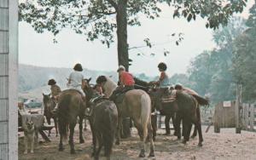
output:
[{"label": "dark-haired child in white shirt seated on brown horse", "polygon": [[73,72],[68,77],[67,82],[67,88],[68,89],[76,89],[79,91],[80,94],[82,94],[83,99],[85,100],[85,94],[84,94],[84,76],[81,73],[83,71],[83,67],[81,64],[76,64],[73,67]]}]

